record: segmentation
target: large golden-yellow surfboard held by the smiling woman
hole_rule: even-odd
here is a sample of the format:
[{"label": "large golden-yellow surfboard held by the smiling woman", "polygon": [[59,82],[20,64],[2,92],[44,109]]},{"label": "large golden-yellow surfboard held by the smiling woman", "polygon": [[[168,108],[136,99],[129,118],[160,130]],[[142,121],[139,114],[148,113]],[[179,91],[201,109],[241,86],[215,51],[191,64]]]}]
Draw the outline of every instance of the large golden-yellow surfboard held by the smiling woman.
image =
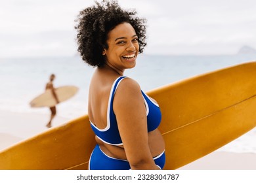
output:
[{"label": "large golden-yellow surfboard held by the smiling woman", "polygon": [[[195,76],[148,92],[158,101],[164,169],[177,169],[256,126],[256,62]],[[95,146],[88,116],[0,152],[0,169],[87,169]]]}]

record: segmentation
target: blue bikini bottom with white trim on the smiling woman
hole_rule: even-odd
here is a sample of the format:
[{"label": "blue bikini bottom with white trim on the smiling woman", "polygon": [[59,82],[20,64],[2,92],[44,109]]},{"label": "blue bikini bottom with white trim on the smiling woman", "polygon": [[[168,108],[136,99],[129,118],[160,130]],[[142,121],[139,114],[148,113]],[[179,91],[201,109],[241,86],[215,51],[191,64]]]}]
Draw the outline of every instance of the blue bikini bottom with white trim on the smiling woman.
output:
[{"label": "blue bikini bottom with white trim on the smiling woman", "polygon": [[[156,165],[163,169],[165,165],[165,152],[163,151],[160,155],[153,158]],[[129,162],[125,159],[116,159],[112,158],[102,150],[100,150],[100,146],[98,144],[95,146],[91,154],[91,158],[89,161],[89,169],[90,170],[129,170],[131,169]]]}]

